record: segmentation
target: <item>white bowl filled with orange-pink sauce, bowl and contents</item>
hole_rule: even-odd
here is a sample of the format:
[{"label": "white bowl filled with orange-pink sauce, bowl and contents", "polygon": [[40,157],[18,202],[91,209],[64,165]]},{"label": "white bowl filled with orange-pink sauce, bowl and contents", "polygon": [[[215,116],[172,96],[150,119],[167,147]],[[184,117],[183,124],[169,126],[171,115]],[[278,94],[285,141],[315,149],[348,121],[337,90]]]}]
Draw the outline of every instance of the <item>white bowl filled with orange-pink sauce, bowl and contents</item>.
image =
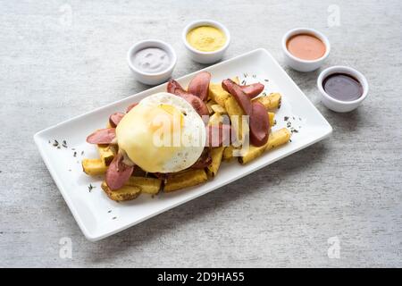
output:
[{"label": "white bowl filled with orange-pink sauce, bowl and contents", "polygon": [[330,55],[331,44],[315,29],[289,30],[282,38],[285,63],[296,71],[314,71],[322,66]]}]

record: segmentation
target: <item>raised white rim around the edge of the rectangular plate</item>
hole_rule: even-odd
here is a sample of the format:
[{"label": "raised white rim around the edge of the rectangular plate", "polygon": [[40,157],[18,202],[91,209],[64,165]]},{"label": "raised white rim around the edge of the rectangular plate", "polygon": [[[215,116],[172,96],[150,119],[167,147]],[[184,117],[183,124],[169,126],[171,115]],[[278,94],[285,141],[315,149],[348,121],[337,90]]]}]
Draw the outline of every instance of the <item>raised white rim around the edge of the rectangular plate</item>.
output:
[{"label": "raised white rim around the edge of the rectangular plate", "polygon": [[318,138],[314,139],[313,141],[308,142],[307,144],[304,144],[303,146],[300,146],[300,147],[297,147],[297,148],[292,149],[292,150],[291,150],[289,153],[287,153],[286,155],[278,156],[278,157],[276,157],[273,161],[267,162],[266,164],[260,164],[260,165],[258,165],[258,167],[254,168],[254,169],[252,169],[252,170],[249,170],[248,172],[244,172],[244,173],[242,173],[242,174],[239,175],[239,176],[234,176],[234,177],[230,178],[230,181],[227,181],[227,182],[224,182],[224,183],[222,183],[222,184],[219,184],[219,185],[218,185],[217,187],[215,187],[214,189],[210,189],[210,190],[208,190],[207,192],[200,193],[200,194],[198,194],[196,197],[183,199],[183,200],[181,200],[181,201],[178,202],[178,203],[172,204],[172,206],[167,206],[167,207],[161,209],[160,211],[157,211],[157,212],[155,212],[155,213],[153,213],[153,214],[144,216],[144,217],[142,217],[141,219],[139,219],[139,220],[137,220],[137,221],[135,221],[135,222],[133,222],[133,223],[128,223],[128,224],[126,224],[126,225],[119,226],[118,228],[114,229],[113,231],[106,231],[105,233],[103,233],[103,234],[101,234],[101,235],[96,235],[96,234],[93,234],[91,231],[88,231],[88,228],[86,227],[85,223],[83,223],[82,220],[81,220],[81,218],[80,218],[80,214],[78,214],[76,208],[73,206],[73,204],[72,204],[72,202],[71,202],[71,199],[69,198],[69,196],[67,196],[67,190],[63,188],[63,184],[61,183],[61,181],[60,181],[60,179],[59,179],[59,176],[57,175],[57,172],[55,172],[53,166],[50,164],[49,159],[48,159],[48,157],[46,156],[45,150],[44,150],[44,148],[41,146],[41,141],[40,141],[40,140],[41,140],[41,138],[42,138],[42,135],[45,134],[47,131],[54,130],[54,129],[60,127],[60,126],[63,125],[63,124],[66,124],[66,123],[69,123],[69,122],[74,122],[74,121],[80,120],[80,118],[82,118],[82,117],[88,116],[89,114],[95,114],[95,113],[97,113],[97,112],[99,112],[99,111],[102,111],[102,110],[104,110],[104,109],[106,109],[106,108],[112,106],[112,105],[121,104],[121,103],[123,103],[124,101],[127,101],[127,100],[129,100],[129,99],[138,97],[140,94],[142,94],[142,93],[144,93],[144,92],[152,92],[152,90],[161,88],[161,87],[163,87],[163,85],[166,85],[166,82],[164,82],[164,83],[162,83],[162,84],[160,84],[160,85],[157,85],[157,86],[155,86],[155,87],[147,88],[147,89],[145,89],[145,90],[139,91],[138,93],[133,94],[133,95],[131,95],[131,96],[129,96],[129,97],[124,97],[124,98],[121,98],[121,99],[119,99],[119,100],[113,101],[113,102],[111,102],[111,103],[109,103],[109,104],[102,105],[102,106],[100,106],[100,107],[97,107],[97,108],[95,108],[95,109],[92,109],[92,110],[88,111],[87,113],[79,114],[79,115],[73,116],[73,117],[71,117],[70,119],[64,120],[63,122],[59,122],[59,123],[56,123],[56,124],[54,124],[54,125],[52,125],[52,126],[49,126],[49,127],[45,128],[45,129],[43,129],[43,130],[39,130],[38,132],[36,132],[36,133],[34,134],[33,139],[34,139],[34,141],[35,141],[35,143],[36,143],[36,145],[37,145],[37,147],[38,147],[39,154],[40,154],[40,156],[42,157],[44,163],[46,164],[46,168],[47,168],[48,172],[50,172],[50,175],[52,176],[52,178],[53,178],[53,180],[54,180],[54,183],[56,184],[57,188],[58,188],[58,189],[60,190],[60,192],[62,193],[63,199],[65,200],[67,206],[69,206],[69,209],[70,209],[70,211],[71,211],[71,214],[73,215],[73,217],[74,217],[74,219],[76,220],[76,222],[79,224],[80,230],[83,232],[83,234],[84,234],[84,236],[87,238],[87,240],[90,240],[90,241],[103,240],[103,239],[105,239],[106,237],[109,237],[109,236],[111,236],[111,235],[113,235],[113,234],[115,234],[115,233],[117,233],[117,232],[124,231],[124,230],[130,228],[131,226],[134,226],[134,225],[136,225],[136,224],[138,224],[138,223],[142,223],[142,222],[146,221],[147,219],[149,219],[149,218],[151,218],[151,217],[154,217],[154,216],[156,216],[156,215],[158,215],[158,214],[162,214],[162,213],[164,213],[164,212],[166,212],[166,211],[168,211],[168,210],[170,210],[170,209],[172,209],[172,208],[174,208],[174,207],[176,207],[176,206],[183,205],[183,204],[187,203],[188,201],[193,200],[193,199],[195,199],[195,198],[199,198],[199,197],[201,197],[201,196],[204,196],[206,193],[209,193],[209,192],[211,192],[211,191],[213,191],[213,190],[215,190],[215,189],[222,188],[222,186],[225,186],[225,185],[227,185],[227,184],[230,184],[230,183],[233,182],[233,181],[237,181],[237,180],[239,180],[240,178],[245,177],[245,176],[247,176],[248,174],[250,174],[250,173],[252,173],[252,172],[255,172],[255,171],[257,171],[257,170],[260,170],[260,169],[264,168],[265,166],[267,166],[267,165],[269,165],[269,164],[273,164],[274,162],[277,162],[277,161],[281,160],[282,158],[284,158],[284,157],[286,157],[286,156],[291,156],[291,155],[293,155],[294,153],[300,151],[301,149],[304,149],[304,148],[306,148],[306,147],[309,147],[309,146],[311,146],[311,145],[314,145],[315,143],[321,141],[322,139],[328,138],[328,137],[331,135],[332,130],[333,130],[331,124],[325,119],[325,117],[323,117],[323,115],[321,114],[321,112],[320,112],[320,111],[317,109],[317,107],[310,101],[310,99],[309,99],[308,97],[306,97],[306,94],[297,86],[296,82],[290,78],[288,72],[286,72],[286,71],[281,67],[281,65],[278,63],[278,61],[271,55],[271,53],[268,52],[268,51],[267,51],[265,48],[263,48],[263,47],[256,48],[256,49],[254,49],[254,50],[252,50],[252,51],[249,51],[249,52],[244,53],[244,54],[241,54],[241,55],[237,55],[237,56],[232,57],[232,58],[230,58],[230,59],[228,59],[228,60],[225,60],[225,61],[223,61],[223,62],[221,62],[221,63],[215,63],[215,64],[210,65],[210,66],[207,66],[207,67],[205,67],[205,68],[203,68],[203,69],[201,69],[201,70],[198,70],[198,71],[194,71],[194,72],[185,74],[185,75],[181,76],[180,78],[178,78],[178,79],[176,79],[176,80],[180,81],[180,80],[182,80],[183,78],[187,78],[187,77],[190,77],[190,76],[192,76],[192,75],[195,75],[195,74],[197,74],[197,73],[200,72],[200,71],[207,71],[207,70],[210,70],[210,69],[212,69],[212,68],[216,68],[216,67],[222,66],[222,65],[224,65],[224,64],[226,64],[226,63],[230,63],[230,62],[232,62],[232,61],[235,61],[235,60],[237,60],[237,59],[239,59],[239,58],[246,57],[247,55],[252,55],[252,54],[257,54],[257,53],[264,53],[265,55],[269,56],[269,57],[272,59],[272,62],[275,64],[276,68],[279,68],[281,71],[283,71],[282,73],[285,75],[286,79],[289,80],[289,82],[291,82],[291,85],[293,86],[293,88],[297,88],[298,92],[303,95],[304,100],[306,100],[306,101],[308,102],[307,104],[310,105],[312,108],[314,108],[314,110],[316,111],[316,113],[321,117],[322,122],[325,123],[325,130],[322,132],[322,135],[319,136]]}]

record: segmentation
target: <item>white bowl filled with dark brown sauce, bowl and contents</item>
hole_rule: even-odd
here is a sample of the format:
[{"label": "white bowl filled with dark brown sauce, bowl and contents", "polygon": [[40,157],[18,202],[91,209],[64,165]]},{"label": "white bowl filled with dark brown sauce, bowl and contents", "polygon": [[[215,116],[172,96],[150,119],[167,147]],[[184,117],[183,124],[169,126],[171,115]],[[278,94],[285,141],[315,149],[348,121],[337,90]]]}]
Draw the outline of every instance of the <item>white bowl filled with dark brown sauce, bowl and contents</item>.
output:
[{"label": "white bowl filled with dark brown sauce, bowl and contents", "polygon": [[355,110],[369,90],[364,75],[347,66],[333,66],[322,71],[317,86],[322,94],[322,104],[337,113]]}]

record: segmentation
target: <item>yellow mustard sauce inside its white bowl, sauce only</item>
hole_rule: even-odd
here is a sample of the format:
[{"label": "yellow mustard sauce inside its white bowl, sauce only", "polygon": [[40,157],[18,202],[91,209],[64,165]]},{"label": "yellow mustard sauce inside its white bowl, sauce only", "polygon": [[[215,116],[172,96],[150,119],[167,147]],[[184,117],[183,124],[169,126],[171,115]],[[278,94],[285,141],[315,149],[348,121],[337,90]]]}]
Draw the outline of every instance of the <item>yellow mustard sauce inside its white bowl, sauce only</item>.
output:
[{"label": "yellow mustard sauce inside its white bowl, sauce only", "polygon": [[212,26],[200,26],[191,29],[186,37],[188,44],[201,52],[214,52],[226,43],[221,29]]}]

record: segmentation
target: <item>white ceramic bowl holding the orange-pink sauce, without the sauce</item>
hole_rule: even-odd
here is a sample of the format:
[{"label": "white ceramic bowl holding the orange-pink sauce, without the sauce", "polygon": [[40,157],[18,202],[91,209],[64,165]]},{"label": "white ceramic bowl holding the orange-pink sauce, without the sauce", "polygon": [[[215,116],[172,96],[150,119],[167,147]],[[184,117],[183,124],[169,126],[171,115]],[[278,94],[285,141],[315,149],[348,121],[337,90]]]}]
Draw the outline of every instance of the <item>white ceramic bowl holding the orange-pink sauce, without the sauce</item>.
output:
[{"label": "white ceramic bowl holding the orange-pink sauce, without the sauce", "polygon": [[[302,60],[292,54],[290,54],[288,50],[288,41],[289,38],[292,38],[293,36],[299,35],[299,34],[309,34],[313,35],[316,38],[319,38],[322,40],[322,43],[325,45],[325,54],[322,55],[321,58],[313,60],[313,61],[307,61],[307,60]],[[289,30],[282,38],[282,50],[285,55],[285,63],[288,64],[292,69],[296,71],[314,71],[318,69],[319,67],[322,66],[322,63],[325,61],[325,59],[330,55],[331,52],[331,44],[328,38],[326,38],[322,33],[320,33],[318,30],[315,29],[308,29],[308,28],[297,28],[297,29],[291,29]]]}]

